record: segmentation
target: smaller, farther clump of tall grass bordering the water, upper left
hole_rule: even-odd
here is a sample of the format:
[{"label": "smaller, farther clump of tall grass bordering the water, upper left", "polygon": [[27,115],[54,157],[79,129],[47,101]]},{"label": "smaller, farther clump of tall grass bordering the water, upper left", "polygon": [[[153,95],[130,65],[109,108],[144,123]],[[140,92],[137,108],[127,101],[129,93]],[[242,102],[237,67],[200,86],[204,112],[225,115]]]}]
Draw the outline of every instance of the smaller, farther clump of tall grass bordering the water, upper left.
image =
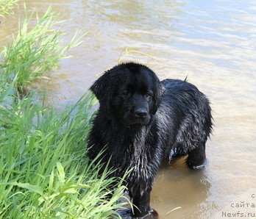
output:
[{"label": "smaller, farther clump of tall grass bordering the water, upper left", "polygon": [[36,15],[35,26],[31,25],[33,15],[25,13],[24,21],[19,23],[18,34],[13,36],[13,43],[4,47],[1,53],[4,61],[0,65],[6,80],[16,76],[15,86],[19,90],[24,90],[34,79],[57,68],[59,60],[66,57],[65,53],[81,43],[81,37],[76,33],[67,46],[61,45],[61,32],[54,29],[60,21],[56,21],[57,15],[50,7],[41,18]]}]

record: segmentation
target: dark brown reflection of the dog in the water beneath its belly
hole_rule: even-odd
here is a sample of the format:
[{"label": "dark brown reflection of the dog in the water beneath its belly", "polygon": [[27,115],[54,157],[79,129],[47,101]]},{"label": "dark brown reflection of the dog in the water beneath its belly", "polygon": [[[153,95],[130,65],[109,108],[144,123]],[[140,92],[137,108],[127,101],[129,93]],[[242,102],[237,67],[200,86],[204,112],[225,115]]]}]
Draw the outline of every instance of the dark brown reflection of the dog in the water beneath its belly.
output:
[{"label": "dark brown reflection of the dog in the water beneath its belly", "polygon": [[[204,207],[201,204],[211,195],[207,167],[204,170],[190,170],[184,163],[185,159],[178,159],[171,165],[165,164],[157,175],[152,206],[161,212],[160,218],[188,218],[187,208],[196,209],[190,212],[191,217],[205,215],[205,212],[201,212]],[[180,208],[171,211],[177,207]]]}]

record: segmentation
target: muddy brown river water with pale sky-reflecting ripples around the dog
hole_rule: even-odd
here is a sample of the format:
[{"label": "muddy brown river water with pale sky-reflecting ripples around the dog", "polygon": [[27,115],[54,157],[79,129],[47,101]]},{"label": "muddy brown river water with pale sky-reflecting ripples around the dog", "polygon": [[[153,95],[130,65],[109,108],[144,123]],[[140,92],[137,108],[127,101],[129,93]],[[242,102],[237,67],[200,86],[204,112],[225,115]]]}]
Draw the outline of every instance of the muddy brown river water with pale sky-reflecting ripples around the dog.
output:
[{"label": "muddy brown river water with pale sky-reflecting ripples around the dog", "polygon": [[[75,58],[54,72],[51,102],[77,101],[118,59],[149,65],[161,79],[188,75],[210,98],[215,130],[207,166],[192,171],[179,159],[160,169],[151,201],[160,218],[256,216],[256,2],[26,1],[39,13],[50,3],[62,19],[72,18],[61,27],[65,40],[88,31],[71,51]],[[17,24],[8,18],[0,25],[2,46]]]}]

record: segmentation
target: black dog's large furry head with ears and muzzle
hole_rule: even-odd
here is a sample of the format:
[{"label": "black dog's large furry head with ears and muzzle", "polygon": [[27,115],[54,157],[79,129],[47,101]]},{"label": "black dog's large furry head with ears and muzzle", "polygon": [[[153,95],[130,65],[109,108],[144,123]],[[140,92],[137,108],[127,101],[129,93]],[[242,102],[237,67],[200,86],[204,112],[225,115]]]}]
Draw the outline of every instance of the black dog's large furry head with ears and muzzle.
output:
[{"label": "black dog's large furry head with ears and muzzle", "polygon": [[133,62],[106,71],[90,90],[99,99],[101,112],[120,123],[142,126],[157,112],[163,93],[156,74]]}]

